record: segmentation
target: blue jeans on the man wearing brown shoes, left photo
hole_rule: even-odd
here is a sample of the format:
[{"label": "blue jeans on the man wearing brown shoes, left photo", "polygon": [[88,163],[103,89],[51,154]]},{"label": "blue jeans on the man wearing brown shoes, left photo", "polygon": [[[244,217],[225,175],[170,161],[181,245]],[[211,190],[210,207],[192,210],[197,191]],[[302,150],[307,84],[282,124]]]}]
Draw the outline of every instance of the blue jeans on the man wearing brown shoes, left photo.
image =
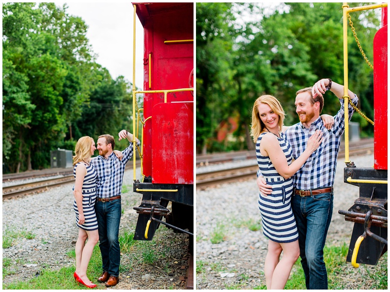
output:
[{"label": "blue jeans on the man wearing brown shoes, left photo", "polygon": [[99,202],[95,204],[98,219],[99,248],[103,271],[111,276],[119,276],[120,248],[119,248],[119,222],[122,213],[121,200]]}]

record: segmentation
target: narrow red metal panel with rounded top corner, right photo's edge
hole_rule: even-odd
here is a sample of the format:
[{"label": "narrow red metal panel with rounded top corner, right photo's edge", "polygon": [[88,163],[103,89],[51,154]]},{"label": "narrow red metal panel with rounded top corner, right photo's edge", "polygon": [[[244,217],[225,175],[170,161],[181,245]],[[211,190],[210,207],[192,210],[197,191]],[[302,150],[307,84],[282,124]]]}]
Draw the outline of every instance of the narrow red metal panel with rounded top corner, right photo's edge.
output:
[{"label": "narrow red metal panel with rounded top corner, right photo's edge", "polygon": [[388,40],[387,25],[374,37],[374,169],[387,170]]}]

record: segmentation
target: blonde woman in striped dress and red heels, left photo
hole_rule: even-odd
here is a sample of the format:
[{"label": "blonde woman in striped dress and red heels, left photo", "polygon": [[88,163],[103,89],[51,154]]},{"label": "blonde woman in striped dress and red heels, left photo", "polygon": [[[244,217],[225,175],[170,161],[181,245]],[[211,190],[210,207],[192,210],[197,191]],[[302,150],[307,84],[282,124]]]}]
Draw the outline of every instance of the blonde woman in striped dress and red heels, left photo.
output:
[{"label": "blonde woman in striped dress and red heels, left photo", "polygon": [[[76,213],[76,225],[79,228],[75,249],[76,272],[73,276],[78,283],[88,288],[96,287],[96,284],[87,277],[87,268],[94,247],[99,240],[98,221],[95,214],[97,173],[90,163],[95,150],[94,139],[84,136],[78,139],[75,156],[73,156],[73,175],[76,179],[73,188],[75,196],[73,208]],[[122,153],[120,151],[116,151],[115,154],[121,159]],[[85,243],[87,238],[88,241]]]}]

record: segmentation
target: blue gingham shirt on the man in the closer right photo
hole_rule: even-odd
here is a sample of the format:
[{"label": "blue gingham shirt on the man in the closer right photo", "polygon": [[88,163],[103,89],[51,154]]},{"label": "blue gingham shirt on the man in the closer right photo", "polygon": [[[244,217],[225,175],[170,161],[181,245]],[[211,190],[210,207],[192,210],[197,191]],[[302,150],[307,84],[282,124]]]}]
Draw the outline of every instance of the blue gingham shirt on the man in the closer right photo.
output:
[{"label": "blue gingham shirt on the man in the closer right photo", "polygon": [[[294,188],[298,190],[312,190],[332,187],[336,172],[337,155],[345,129],[344,99],[339,99],[341,108],[334,116],[334,125],[331,130],[325,128],[321,117],[318,117],[306,129],[301,122],[291,126],[286,131],[286,139],[292,147],[294,159],[306,149],[306,143],[315,130],[321,130],[324,140],[316,151],[312,153],[305,164],[292,176]],[[358,98],[355,95],[352,103],[357,106]],[[354,109],[348,104],[348,118],[351,120]]]}]

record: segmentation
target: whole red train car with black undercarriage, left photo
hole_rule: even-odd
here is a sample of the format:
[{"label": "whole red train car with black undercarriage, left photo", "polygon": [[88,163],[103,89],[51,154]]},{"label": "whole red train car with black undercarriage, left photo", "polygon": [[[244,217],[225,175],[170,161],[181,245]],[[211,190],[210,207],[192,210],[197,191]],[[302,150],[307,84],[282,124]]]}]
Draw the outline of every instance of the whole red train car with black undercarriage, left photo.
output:
[{"label": "whole red train car with black undercarriage, left photo", "polygon": [[193,244],[194,3],[133,5],[144,29],[143,181],[134,182],[142,194],[134,239],[152,240],[164,224],[190,234]]}]

